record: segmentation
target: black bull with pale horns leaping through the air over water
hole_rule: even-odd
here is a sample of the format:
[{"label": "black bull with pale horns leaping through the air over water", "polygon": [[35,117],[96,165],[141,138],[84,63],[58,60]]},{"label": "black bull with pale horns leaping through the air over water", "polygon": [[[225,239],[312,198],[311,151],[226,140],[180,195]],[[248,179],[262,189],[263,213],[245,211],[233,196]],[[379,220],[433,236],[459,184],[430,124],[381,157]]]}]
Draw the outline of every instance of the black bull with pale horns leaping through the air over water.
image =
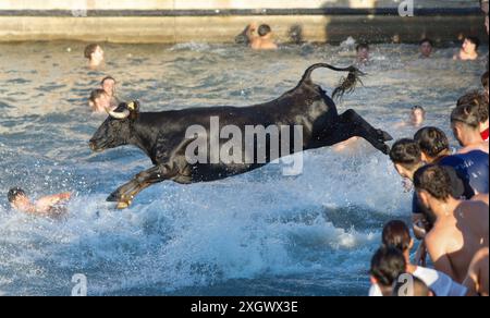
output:
[{"label": "black bull with pale horns leaping through the air over water", "polygon": [[[102,151],[134,145],[148,155],[155,167],[137,174],[131,182],[121,186],[109,196],[108,201],[119,203],[119,208],[126,208],[138,193],[156,183],[167,180],[182,184],[216,181],[253,171],[278,159],[268,156],[265,163],[260,161],[261,163],[253,164],[236,162],[230,164],[221,161],[189,163],[186,148],[192,140],[186,138],[187,129],[194,125],[203,126],[209,136],[210,119],[215,117],[219,118],[220,130],[223,126],[234,125],[240,127],[243,136],[245,126],[290,126],[292,131],[294,126],[302,126],[303,148],[299,151],[332,146],[357,136],[388,154],[390,148],[385,142],[392,139],[388,133],[372,127],[354,110],[339,114],[332,98],[313,83],[311,73],[318,68],[348,72],[348,76],[333,91],[332,98],[352,91],[359,81],[358,76],[362,75],[353,66],[338,69],[323,63],[315,64],[306,71],[296,88],[273,101],[243,108],[213,107],[140,113],[137,103],[121,105],[114,112],[110,112],[110,117],[90,139],[90,148],[94,151]],[[285,134],[280,134],[280,142],[283,135]],[[293,145],[293,135],[291,133],[287,135],[291,138],[290,145]],[[220,139],[219,143],[222,146],[226,140]],[[257,150],[257,145],[253,147]],[[269,147],[268,143],[267,148]],[[269,149],[267,154],[270,154]]]}]

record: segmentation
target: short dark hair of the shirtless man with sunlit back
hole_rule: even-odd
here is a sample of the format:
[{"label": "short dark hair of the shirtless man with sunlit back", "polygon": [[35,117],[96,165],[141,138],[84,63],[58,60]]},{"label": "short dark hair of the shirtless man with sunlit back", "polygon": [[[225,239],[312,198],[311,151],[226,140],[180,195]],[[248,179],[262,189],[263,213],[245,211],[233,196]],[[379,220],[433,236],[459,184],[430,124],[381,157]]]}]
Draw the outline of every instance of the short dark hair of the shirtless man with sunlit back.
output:
[{"label": "short dark hair of the shirtless man with sunlit back", "polygon": [[426,191],[438,200],[448,200],[452,194],[450,167],[429,166],[419,169],[414,175],[417,191]]}]

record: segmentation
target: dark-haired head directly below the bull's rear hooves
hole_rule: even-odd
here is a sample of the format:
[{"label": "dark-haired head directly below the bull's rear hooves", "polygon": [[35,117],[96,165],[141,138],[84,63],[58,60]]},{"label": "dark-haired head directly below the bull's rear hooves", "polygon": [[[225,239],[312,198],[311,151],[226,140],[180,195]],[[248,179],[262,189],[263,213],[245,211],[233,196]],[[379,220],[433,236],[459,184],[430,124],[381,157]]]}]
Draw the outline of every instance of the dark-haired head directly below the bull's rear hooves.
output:
[{"label": "dark-haired head directly below the bull's rear hooves", "polygon": [[421,151],[413,139],[397,140],[390,151],[390,159],[402,178],[414,180],[414,173],[422,166]]}]

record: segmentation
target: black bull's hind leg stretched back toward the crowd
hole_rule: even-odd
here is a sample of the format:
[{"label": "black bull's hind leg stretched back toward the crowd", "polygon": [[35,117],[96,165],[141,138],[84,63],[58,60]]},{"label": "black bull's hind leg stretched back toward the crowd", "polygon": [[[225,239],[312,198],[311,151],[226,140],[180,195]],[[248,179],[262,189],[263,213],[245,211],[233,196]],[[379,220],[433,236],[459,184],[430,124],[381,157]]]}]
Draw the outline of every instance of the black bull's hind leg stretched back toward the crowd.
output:
[{"label": "black bull's hind leg stretched back toward the crowd", "polygon": [[385,142],[393,140],[393,137],[389,133],[375,129],[354,110],[347,110],[339,119],[339,126],[334,132],[340,139],[339,143],[351,137],[362,137],[381,152],[385,155],[390,152],[390,147]]}]

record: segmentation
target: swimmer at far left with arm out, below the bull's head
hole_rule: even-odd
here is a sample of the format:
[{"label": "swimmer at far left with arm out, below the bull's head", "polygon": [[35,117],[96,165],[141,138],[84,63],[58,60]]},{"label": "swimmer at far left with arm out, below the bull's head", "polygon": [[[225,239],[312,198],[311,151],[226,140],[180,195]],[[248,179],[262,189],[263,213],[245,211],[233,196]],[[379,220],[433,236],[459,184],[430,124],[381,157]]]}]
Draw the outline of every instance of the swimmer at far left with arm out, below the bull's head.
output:
[{"label": "swimmer at far left with arm out, below the bull's head", "polygon": [[8,194],[9,203],[14,210],[27,215],[50,218],[57,218],[64,215],[66,210],[61,205],[70,200],[72,194],[70,193],[61,193],[42,197],[33,203],[20,187],[11,188]]}]

